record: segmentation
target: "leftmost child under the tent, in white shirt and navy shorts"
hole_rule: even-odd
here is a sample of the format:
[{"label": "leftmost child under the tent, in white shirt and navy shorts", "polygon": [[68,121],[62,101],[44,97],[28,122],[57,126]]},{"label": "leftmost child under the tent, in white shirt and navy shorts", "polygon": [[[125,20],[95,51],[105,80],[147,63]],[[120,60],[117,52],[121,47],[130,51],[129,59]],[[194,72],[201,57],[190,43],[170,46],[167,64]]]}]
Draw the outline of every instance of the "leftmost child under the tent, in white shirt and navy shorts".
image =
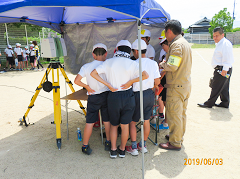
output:
[{"label": "leftmost child under the tent, in white shirt and navy shorts", "polygon": [[[107,47],[102,43],[95,44],[93,46],[92,55],[94,61],[83,65],[74,80],[75,84],[86,88],[88,91],[87,116],[82,145],[82,152],[88,155],[90,155],[92,152],[92,149],[90,148],[88,142],[92,134],[93,125],[98,121],[99,110],[101,110],[101,116],[106,132],[105,150],[110,151],[111,149],[110,122],[107,108],[107,97],[109,89],[107,86],[98,82],[90,75],[90,73],[95,68],[97,68],[106,60]],[[83,77],[86,77],[87,84],[84,84],[81,81]],[[104,74],[101,74],[101,77],[106,80]]]}]

